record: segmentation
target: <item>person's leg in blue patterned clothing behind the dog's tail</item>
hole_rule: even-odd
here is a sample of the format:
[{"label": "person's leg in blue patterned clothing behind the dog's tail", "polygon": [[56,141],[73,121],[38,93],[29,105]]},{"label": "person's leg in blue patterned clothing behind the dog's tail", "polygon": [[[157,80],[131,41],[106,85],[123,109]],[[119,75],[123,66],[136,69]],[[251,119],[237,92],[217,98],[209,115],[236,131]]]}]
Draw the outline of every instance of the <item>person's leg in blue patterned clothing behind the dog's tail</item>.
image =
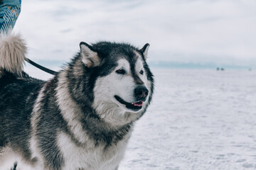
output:
[{"label": "person's leg in blue patterned clothing behind the dog's tail", "polygon": [[20,0],[0,0],[0,33],[12,30],[21,12]]}]

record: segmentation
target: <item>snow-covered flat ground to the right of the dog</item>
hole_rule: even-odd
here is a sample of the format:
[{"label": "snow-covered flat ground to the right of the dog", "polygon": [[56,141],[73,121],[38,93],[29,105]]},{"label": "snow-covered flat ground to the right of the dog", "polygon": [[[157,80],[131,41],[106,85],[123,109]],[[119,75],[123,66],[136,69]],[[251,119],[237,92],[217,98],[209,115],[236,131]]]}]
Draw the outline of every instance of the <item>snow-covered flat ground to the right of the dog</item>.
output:
[{"label": "snow-covered flat ground to the right of the dog", "polygon": [[122,170],[256,169],[256,72],[153,69]]}]

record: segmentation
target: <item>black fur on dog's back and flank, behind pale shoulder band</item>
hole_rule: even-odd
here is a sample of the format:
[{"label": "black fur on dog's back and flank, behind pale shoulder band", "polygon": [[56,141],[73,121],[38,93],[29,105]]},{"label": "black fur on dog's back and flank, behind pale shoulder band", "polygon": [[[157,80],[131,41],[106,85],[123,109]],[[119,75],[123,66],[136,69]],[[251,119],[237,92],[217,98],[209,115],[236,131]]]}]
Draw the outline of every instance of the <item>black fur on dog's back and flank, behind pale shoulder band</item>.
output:
[{"label": "black fur on dog's back and flank, behind pale shoulder band", "polygon": [[17,79],[8,72],[4,73],[0,78],[0,143],[2,147],[10,145],[29,160],[30,118],[43,81],[31,79],[26,74],[23,79]]}]

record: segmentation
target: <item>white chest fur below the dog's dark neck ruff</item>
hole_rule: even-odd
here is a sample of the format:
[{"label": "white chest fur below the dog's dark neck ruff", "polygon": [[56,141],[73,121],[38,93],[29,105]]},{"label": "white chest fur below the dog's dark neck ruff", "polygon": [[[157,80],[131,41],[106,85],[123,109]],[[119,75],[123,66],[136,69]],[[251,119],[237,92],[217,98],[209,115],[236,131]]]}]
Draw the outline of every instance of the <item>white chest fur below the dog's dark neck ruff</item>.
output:
[{"label": "white chest fur below the dog's dark neck ruff", "polygon": [[58,135],[58,146],[63,153],[63,170],[69,169],[117,169],[119,162],[124,156],[127,147],[127,140],[130,134],[127,134],[124,140],[105,148],[103,145],[95,144],[92,140],[87,140],[84,145],[76,145],[68,135],[60,132]]}]

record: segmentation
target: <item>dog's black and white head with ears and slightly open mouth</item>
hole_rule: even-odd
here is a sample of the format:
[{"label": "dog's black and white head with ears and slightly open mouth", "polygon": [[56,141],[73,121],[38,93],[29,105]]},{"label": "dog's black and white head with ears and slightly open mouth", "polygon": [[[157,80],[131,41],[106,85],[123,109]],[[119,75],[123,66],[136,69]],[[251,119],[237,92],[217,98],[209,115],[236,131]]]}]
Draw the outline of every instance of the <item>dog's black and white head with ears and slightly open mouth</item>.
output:
[{"label": "dog's black and white head with ears and slightly open mouth", "polygon": [[127,44],[80,43],[80,56],[94,72],[93,108],[107,123],[124,125],[140,118],[154,91],[146,64],[149,44],[142,49]]}]

